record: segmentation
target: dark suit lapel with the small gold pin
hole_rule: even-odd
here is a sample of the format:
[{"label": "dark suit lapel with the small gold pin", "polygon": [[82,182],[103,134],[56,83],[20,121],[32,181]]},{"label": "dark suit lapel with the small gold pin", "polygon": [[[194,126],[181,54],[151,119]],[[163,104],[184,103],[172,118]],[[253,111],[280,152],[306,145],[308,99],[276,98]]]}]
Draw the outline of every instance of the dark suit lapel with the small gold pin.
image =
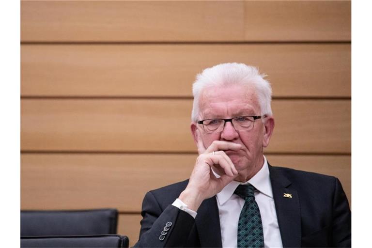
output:
[{"label": "dark suit lapel with the small gold pin", "polygon": [[[301,247],[301,213],[297,191],[277,168],[269,165],[269,171],[283,247]],[[284,197],[284,194],[290,195]]]}]

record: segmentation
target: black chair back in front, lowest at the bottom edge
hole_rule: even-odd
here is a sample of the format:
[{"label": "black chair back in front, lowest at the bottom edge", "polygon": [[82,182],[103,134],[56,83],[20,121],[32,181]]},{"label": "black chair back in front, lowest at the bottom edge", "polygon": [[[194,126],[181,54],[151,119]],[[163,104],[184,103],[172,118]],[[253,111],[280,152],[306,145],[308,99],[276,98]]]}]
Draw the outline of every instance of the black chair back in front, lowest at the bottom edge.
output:
[{"label": "black chair back in front, lowest at the bottom edge", "polygon": [[121,235],[87,235],[87,236],[34,236],[21,237],[21,248],[69,247],[69,248],[127,248],[129,239]]}]

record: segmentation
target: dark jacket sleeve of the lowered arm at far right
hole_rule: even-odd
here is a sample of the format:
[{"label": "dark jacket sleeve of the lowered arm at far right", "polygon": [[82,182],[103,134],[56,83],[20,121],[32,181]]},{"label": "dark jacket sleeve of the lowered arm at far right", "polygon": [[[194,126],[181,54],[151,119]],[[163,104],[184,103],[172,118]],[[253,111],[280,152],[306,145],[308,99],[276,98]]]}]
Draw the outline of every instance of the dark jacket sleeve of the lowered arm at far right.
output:
[{"label": "dark jacket sleeve of the lowered arm at far right", "polygon": [[351,212],[339,179],[333,198],[332,247],[351,247]]}]

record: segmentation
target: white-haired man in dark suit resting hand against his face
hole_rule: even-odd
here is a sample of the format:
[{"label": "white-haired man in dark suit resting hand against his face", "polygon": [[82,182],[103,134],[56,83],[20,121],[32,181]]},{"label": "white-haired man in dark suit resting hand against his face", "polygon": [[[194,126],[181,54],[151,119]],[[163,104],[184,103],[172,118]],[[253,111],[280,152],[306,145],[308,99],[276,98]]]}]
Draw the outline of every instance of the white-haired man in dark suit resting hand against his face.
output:
[{"label": "white-haired man in dark suit resting hand against his face", "polygon": [[238,63],[205,69],[193,85],[190,178],[148,192],[136,247],[351,247],[340,181],[273,167],[270,84]]}]

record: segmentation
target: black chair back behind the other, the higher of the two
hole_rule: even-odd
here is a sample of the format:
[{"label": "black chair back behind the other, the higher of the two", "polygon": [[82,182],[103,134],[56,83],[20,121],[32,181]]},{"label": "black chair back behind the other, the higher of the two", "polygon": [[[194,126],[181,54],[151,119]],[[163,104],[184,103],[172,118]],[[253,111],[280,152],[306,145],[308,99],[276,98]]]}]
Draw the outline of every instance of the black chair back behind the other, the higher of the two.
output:
[{"label": "black chair back behind the other, the higher of the two", "polygon": [[118,211],[21,211],[21,236],[116,234]]}]

